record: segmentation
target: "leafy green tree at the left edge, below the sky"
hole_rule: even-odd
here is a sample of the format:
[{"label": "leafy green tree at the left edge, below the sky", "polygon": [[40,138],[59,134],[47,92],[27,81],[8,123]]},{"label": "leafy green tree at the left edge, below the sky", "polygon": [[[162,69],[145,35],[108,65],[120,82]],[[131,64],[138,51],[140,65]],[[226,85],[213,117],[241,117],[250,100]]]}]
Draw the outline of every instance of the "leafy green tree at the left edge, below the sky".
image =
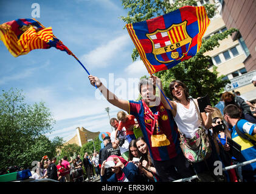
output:
[{"label": "leafy green tree at the left edge, below the sky", "polygon": [[63,139],[50,141],[55,121],[44,102],[25,103],[22,91],[10,89],[0,93],[0,168],[7,166],[30,167],[32,161],[43,155],[55,156],[56,147]]}]

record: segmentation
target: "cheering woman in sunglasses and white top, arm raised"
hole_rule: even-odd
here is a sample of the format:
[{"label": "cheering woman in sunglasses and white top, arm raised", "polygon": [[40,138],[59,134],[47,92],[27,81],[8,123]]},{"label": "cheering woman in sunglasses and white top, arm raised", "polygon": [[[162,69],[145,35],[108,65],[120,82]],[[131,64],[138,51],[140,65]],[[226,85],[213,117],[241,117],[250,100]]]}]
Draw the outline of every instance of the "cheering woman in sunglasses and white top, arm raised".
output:
[{"label": "cheering woman in sunglasses and white top, arm raised", "polygon": [[[164,93],[161,80],[156,76],[151,76],[153,82],[159,81],[161,90]],[[212,114],[215,111],[213,107],[207,105],[204,109],[205,112],[199,113],[197,99],[190,98],[188,87],[179,80],[174,80],[169,85],[171,97],[174,99],[164,98],[161,93],[161,102],[164,104],[165,109],[171,111],[173,118],[178,125],[179,132],[186,139],[186,141],[193,142],[199,136],[199,130],[205,131],[206,133],[212,128]],[[171,107],[170,107],[171,105]],[[214,143],[210,140],[210,144]],[[208,173],[215,169],[214,161],[218,160],[218,154],[216,153],[215,147],[212,145],[212,154],[209,158],[204,161],[193,162],[195,172]],[[194,157],[192,158],[192,160]],[[215,176],[212,176],[215,178]]]}]

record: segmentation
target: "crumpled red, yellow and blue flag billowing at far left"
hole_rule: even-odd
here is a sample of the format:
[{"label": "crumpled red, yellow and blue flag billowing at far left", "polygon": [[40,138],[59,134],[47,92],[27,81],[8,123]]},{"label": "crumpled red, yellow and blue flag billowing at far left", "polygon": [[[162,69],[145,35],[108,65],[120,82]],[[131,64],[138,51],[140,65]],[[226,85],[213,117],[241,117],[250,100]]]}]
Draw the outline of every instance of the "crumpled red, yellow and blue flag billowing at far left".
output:
[{"label": "crumpled red, yellow and blue flag billowing at far left", "polygon": [[0,38],[15,57],[26,55],[33,49],[49,49],[50,47],[74,56],[71,50],[53,35],[51,27],[46,28],[35,19],[16,19],[1,24]]}]

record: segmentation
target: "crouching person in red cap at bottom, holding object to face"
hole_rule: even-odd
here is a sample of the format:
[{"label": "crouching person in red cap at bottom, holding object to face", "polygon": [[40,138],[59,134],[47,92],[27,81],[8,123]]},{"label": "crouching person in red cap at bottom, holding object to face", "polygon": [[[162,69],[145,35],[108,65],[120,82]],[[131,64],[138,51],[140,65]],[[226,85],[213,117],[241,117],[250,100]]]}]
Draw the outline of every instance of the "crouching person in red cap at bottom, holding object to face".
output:
[{"label": "crouching person in red cap at bottom, holding object to face", "polygon": [[[105,164],[106,162],[113,161],[114,166],[111,166],[113,175],[106,179]],[[100,172],[101,182],[136,182],[139,181],[139,170],[132,162],[127,162],[120,156],[111,155],[103,161],[102,169]]]}]

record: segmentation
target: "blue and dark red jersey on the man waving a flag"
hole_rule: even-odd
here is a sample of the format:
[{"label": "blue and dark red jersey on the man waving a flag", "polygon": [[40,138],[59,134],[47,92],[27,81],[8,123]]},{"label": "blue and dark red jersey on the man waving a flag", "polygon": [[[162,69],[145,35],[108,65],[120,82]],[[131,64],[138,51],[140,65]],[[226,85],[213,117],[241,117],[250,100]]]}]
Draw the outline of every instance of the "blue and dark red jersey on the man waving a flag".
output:
[{"label": "blue and dark red jersey on the man waving a flag", "polygon": [[141,100],[129,101],[129,114],[134,115],[139,122],[140,129],[142,130],[142,134],[144,135],[144,139],[148,145],[151,158],[156,161],[167,161],[181,153],[177,125],[170,110],[165,109],[162,102],[158,106],[150,107],[153,114],[157,111],[159,112],[159,126],[170,141],[170,145],[161,147],[151,146],[151,129],[153,127],[153,119],[148,113],[145,113],[144,110],[144,105]]}]

